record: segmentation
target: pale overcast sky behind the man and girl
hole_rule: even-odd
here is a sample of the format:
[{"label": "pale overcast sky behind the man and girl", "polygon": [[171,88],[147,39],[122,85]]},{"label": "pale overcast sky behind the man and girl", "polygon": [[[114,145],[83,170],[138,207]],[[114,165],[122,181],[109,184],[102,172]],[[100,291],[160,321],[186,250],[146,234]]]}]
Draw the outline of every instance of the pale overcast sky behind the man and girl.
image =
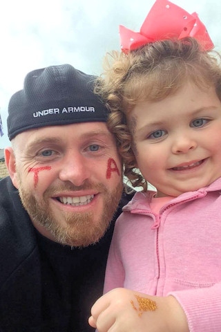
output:
[{"label": "pale overcast sky behind the man and girl", "polygon": [[[29,71],[72,64],[89,74],[102,72],[108,50],[119,49],[119,24],[139,31],[154,0],[7,0],[0,4],[0,113],[10,145],[6,118],[10,96],[22,89]],[[221,50],[219,0],[174,0],[197,12],[215,48]]]}]

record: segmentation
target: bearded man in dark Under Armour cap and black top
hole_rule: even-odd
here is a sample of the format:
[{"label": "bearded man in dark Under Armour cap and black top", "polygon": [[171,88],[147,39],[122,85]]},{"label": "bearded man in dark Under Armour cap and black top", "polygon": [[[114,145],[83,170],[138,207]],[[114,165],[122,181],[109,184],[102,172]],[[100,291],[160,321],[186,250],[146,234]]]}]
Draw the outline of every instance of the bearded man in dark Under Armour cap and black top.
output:
[{"label": "bearded man in dark Under Armour cap and black top", "polygon": [[68,64],[50,66],[29,73],[10,99],[1,332],[94,331],[90,307],[102,295],[108,225],[122,195],[121,160],[94,80]]}]

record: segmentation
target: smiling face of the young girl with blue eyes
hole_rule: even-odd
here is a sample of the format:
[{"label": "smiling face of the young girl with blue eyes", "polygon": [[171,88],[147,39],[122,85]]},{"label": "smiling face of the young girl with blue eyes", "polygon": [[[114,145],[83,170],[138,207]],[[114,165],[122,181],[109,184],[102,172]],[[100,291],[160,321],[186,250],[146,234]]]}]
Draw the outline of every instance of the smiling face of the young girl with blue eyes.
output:
[{"label": "smiling face of the young girl with blue eyes", "polygon": [[134,152],[158,196],[198,190],[221,176],[221,102],[215,88],[186,82],[159,102],[140,102],[128,115]]}]

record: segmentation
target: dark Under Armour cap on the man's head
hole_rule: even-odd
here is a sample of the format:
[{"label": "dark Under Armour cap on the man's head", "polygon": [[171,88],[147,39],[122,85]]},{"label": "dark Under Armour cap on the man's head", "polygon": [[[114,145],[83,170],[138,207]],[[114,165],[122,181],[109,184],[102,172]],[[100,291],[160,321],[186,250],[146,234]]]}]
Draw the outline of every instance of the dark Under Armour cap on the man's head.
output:
[{"label": "dark Under Armour cap on the man's head", "polygon": [[8,105],[8,137],[28,129],[77,122],[106,122],[108,109],[93,93],[95,76],[70,64],[26,75],[23,90]]}]

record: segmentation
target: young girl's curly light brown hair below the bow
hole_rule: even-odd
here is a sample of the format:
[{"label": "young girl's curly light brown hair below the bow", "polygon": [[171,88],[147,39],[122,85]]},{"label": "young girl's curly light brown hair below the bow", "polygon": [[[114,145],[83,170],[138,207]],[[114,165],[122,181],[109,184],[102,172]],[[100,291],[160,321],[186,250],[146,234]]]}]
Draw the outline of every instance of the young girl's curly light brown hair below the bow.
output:
[{"label": "young girl's curly light brown hair below the bow", "polygon": [[188,80],[200,89],[215,86],[221,100],[220,54],[204,51],[194,38],[158,41],[128,54],[107,53],[95,93],[111,111],[108,128],[117,139],[124,175],[133,187],[142,186],[146,191],[148,183],[136,168],[134,128],[128,119],[131,109],[137,102],[156,102],[173,95]]}]

